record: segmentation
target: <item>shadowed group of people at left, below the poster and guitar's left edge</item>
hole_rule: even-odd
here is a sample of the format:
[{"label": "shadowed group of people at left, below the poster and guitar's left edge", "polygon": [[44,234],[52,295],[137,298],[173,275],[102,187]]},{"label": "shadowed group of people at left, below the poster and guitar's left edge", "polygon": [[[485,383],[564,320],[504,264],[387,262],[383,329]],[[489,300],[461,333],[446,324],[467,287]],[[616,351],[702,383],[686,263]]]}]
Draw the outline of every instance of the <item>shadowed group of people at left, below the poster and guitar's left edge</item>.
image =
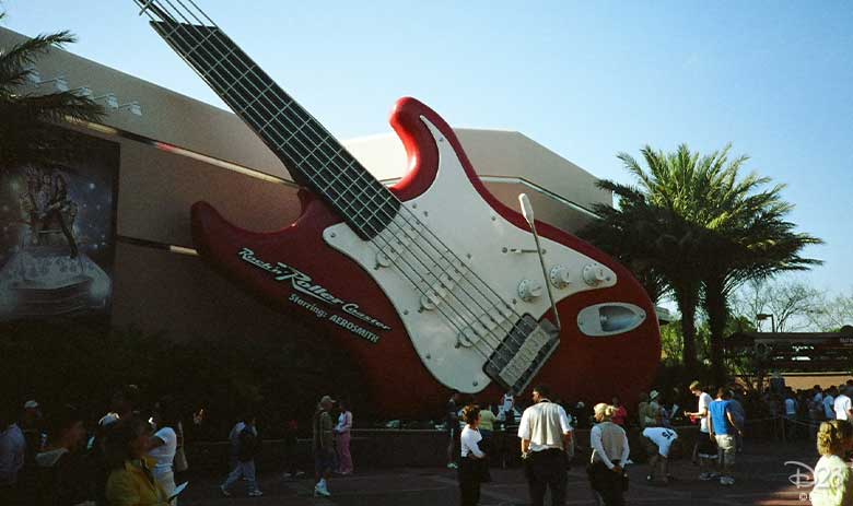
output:
[{"label": "shadowed group of people at left, below the poster and guitar's left edge", "polygon": [[[188,469],[184,425],[171,396],[151,407],[140,405],[139,388],[115,391],[109,411],[92,419],[72,405],[43,407],[28,400],[23,409],[4,407],[0,412],[0,505],[17,506],[175,506]],[[337,423],[332,423],[336,407]],[[198,424],[203,411],[196,413]],[[313,420],[315,490],[329,496],[332,473],[351,474],[350,432],[353,416],[347,403],[324,396]],[[297,468],[296,433],[292,420],[283,438],[283,478],[304,474]],[[249,497],[258,489],[255,458],[261,437],[254,413],[239,416],[229,435],[231,472],[220,485],[231,496],[238,480],[246,482]]]}]

